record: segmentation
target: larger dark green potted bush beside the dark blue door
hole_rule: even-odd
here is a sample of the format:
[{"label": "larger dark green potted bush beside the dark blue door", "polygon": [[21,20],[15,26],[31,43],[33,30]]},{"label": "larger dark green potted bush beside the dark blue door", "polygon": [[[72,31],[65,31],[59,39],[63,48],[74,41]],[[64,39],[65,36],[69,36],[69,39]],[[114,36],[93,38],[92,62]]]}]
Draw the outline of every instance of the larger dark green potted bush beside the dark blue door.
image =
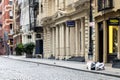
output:
[{"label": "larger dark green potted bush beside the dark blue door", "polygon": [[26,43],[24,45],[24,52],[26,53],[26,58],[32,58],[34,47],[35,44],[33,42]]}]

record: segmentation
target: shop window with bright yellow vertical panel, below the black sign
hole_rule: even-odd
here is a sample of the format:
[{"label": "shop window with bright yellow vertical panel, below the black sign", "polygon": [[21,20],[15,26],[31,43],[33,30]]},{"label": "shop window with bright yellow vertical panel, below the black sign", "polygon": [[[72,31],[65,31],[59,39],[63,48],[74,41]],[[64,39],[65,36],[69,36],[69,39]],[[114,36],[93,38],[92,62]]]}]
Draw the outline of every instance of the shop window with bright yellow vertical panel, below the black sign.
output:
[{"label": "shop window with bright yellow vertical panel, below the black sign", "polygon": [[109,26],[109,53],[108,62],[117,58],[118,53],[118,26]]}]

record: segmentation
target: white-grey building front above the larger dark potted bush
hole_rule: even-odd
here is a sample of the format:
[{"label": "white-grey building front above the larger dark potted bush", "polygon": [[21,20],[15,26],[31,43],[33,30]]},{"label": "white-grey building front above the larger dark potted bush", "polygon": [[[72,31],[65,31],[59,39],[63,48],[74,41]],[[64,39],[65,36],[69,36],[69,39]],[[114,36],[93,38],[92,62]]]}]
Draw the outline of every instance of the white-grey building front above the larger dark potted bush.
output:
[{"label": "white-grey building front above the larger dark potted bush", "polygon": [[34,33],[30,30],[29,0],[22,0],[20,20],[22,26],[22,43],[26,44],[35,41]]}]

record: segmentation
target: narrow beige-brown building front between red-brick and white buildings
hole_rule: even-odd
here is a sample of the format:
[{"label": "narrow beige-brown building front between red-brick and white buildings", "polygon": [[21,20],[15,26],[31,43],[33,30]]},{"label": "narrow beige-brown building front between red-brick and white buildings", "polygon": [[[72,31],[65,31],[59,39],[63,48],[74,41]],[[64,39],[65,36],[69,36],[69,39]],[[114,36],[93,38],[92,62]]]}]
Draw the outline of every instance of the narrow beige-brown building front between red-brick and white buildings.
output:
[{"label": "narrow beige-brown building front between red-brick and white buildings", "polygon": [[20,17],[21,17],[21,0],[14,0],[13,2],[13,31],[14,31],[13,50],[15,50],[15,47],[17,44],[22,43]]}]

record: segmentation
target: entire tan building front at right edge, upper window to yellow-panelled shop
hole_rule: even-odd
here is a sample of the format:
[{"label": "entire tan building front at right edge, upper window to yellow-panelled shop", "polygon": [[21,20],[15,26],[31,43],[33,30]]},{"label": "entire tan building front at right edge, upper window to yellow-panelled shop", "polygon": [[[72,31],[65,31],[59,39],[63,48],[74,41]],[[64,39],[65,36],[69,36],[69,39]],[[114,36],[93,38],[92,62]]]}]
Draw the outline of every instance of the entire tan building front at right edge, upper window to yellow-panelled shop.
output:
[{"label": "entire tan building front at right edge, upper window to yellow-panelled shop", "polygon": [[[119,0],[96,0],[95,53],[96,61],[111,62],[120,58]],[[116,22],[117,21],[117,22]]]}]

